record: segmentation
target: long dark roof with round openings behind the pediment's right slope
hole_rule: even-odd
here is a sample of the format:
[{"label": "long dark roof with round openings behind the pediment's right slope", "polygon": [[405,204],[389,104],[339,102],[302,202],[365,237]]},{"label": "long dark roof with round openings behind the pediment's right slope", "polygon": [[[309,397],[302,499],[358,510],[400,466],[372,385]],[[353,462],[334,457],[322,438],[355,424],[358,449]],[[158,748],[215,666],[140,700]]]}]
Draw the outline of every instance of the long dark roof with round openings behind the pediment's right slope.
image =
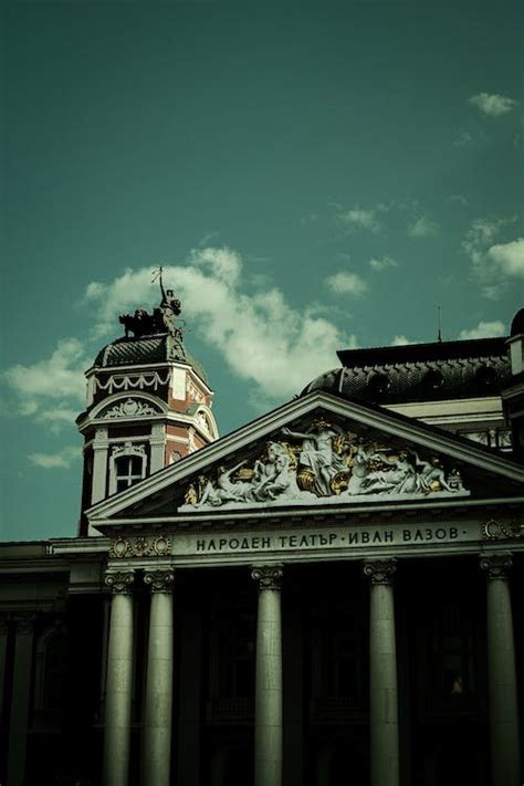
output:
[{"label": "long dark roof with round openings behind the pediment's right slope", "polygon": [[302,396],[327,390],[376,404],[497,396],[511,384],[506,339],[343,349],[342,368],[321,375]]}]

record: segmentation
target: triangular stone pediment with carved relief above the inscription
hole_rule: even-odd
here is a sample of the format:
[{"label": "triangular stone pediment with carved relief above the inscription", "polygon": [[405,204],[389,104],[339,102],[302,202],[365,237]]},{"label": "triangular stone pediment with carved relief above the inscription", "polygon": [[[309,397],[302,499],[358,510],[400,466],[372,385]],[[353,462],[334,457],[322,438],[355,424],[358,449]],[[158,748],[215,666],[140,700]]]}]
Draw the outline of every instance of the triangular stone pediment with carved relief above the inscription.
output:
[{"label": "triangular stone pediment with carved relief above the inscription", "polygon": [[522,495],[524,468],[378,407],[314,392],[98,503],[94,526]]}]

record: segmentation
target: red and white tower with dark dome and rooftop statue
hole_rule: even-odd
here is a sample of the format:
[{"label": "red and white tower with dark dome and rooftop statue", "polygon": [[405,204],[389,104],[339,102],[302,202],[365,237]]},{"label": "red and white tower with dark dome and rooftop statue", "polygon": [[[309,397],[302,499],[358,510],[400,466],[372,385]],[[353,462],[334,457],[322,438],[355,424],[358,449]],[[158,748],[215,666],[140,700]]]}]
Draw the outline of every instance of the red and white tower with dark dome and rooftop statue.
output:
[{"label": "red and white tower with dark dome and rooftop statue", "polygon": [[164,289],[161,269],[159,282],[159,306],[120,315],[125,336],[86,371],[87,406],[76,419],[84,438],[81,535],[96,502],[218,439],[213,392],[185,347],[181,304]]}]

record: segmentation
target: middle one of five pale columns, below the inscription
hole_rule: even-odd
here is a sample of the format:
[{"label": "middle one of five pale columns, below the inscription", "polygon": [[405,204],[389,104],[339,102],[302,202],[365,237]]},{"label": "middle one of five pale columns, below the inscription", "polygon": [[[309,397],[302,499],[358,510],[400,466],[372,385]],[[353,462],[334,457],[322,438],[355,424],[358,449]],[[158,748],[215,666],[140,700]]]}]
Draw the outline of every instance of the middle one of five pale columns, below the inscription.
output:
[{"label": "middle one of five pale columns, below the inscription", "polygon": [[254,786],[282,786],[282,565],[254,566],[259,583]]}]

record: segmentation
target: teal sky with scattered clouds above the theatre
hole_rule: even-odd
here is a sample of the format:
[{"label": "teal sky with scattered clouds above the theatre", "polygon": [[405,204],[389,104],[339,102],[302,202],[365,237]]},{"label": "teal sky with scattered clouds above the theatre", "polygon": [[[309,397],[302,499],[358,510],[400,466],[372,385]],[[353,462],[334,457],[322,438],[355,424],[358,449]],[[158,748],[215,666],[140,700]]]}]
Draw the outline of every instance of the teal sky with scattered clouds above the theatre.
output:
[{"label": "teal sky with scattered clouds above the theatre", "polygon": [[182,301],[222,434],[523,304],[522,6],[4,2],[0,538],[74,536],[84,371]]}]

